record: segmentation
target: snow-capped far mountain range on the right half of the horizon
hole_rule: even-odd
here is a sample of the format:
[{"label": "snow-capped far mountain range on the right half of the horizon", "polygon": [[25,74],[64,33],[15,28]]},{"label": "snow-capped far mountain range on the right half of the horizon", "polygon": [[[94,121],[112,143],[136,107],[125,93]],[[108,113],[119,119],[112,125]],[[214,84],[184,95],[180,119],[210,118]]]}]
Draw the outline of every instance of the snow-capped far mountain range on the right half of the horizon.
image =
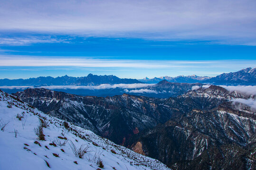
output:
[{"label": "snow-capped far mountain range on the right half of the horizon", "polygon": [[143,83],[158,83],[167,80],[173,83],[210,83],[214,85],[256,85],[256,68],[245,68],[234,73],[223,73],[216,77],[209,76],[163,76],[139,79]]}]

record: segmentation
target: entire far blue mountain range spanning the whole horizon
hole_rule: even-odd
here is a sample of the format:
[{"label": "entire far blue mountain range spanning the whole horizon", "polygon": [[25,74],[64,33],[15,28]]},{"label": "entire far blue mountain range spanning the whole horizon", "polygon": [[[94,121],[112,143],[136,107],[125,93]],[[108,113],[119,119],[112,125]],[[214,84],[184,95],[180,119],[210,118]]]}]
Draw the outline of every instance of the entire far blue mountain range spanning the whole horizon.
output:
[{"label": "entire far blue mountain range spanning the whole horizon", "polygon": [[28,79],[0,79],[0,86],[49,86],[49,85],[102,85],[102,84],[136,84],[148,83],[156,84],[162,80],[167,80],[171,83],[209,83],[213,85],[256,85],[256,68],[245,68],[234,73],[223,73],[216,77],[209,76],[163,76],[154,77],[152,79],[131,79],[119,78],[113,75],[97,76],[89,74],[83,77],[72,76],[40,76],[37,78]]}]

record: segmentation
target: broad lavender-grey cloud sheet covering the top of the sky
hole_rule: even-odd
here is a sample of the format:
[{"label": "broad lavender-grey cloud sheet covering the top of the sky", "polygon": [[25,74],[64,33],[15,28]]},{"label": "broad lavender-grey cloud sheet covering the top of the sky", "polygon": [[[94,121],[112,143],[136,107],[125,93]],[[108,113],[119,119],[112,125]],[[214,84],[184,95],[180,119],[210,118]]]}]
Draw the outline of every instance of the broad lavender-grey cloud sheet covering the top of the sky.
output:
[{"label": "broad lavender-grey cloud sheet covering the top of the sky", "polygon": [[255,0],[0,2],[0,30],[255,45]]}]

